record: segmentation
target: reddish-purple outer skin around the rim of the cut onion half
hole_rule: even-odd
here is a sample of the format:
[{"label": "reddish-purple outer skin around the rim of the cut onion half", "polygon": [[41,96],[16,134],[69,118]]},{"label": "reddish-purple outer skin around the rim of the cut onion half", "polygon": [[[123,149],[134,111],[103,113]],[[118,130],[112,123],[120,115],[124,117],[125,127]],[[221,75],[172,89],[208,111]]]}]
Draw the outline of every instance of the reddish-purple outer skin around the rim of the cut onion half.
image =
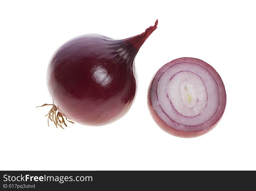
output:
[{"label": "reddish-purple outer skin around the rim of the cut onion half", "polygon": [[[202,60],[199,60],[197,58],[187,58],[187,57],[184,57],[184,58],[178,58],[178,59],[175,59],[175,60],[172,60],[171,62],[167,63],[166,65],[169,65],[169,64],[175,64],[175,63],[186,63],[188,62],[188,60],[195,60],[195,62],[201,62],[201,63],[205,63],[204,61]],[[164,65],[164,66],[166,66]],[[208,65],[208,64],[207,64]],[[164,67],[163,66],[163,67]],[[210,65],[209,65],[210,66]],[[158,71],[160,71],[163,67],[161,67]],[[211,67],[211,66],[210,66]],[[214,70],[212,67],[211,67],[211,70]],[[157,71],[157,72],[158,72]],[[215,71],[215,70],[214,70]],[[152,118],[154,119],[154,121],[156,122],[156,124],[165,132],[171,134],[171,135],[174,135],[176,137],[181,137],[181,138],[194,138],[194,137],[198,137],[198,136],[201,136],[201,135],[204,135],[205,133],[208,133],[209,131],[211,131],[217,124],[218,122],[220,122],[222,116],[223,116],[223,113],[225,111],[225,106],[226,106],[226,93],[224,93],[222,96],[222,100],[221,100],[221,105],[222,105],[222,110],[219,112],[221,117],[218,119],[218,121],[216,121],[215,124],[213,124],[212,126],[209,126],[206,130],[204,131],[194,131],[194,132],[186,132],[186,131],[179,131],[179,130],[176,130],[174,129],[173,127],[170,127],[168,125],[166,125],[162,120],[161,118],[156,114],[156,112],[154,111],[153,107],[152,107],[152,101],[151,101],[151,86],[152,86],[152,82],[157,74],[157,72],[154,74],[151,82],[150,82],[150,85],[149,85],[149,88],[148,88],[148,92],[147,92],[147,106],[148,106],[148,109],[149,109],[149,112],[150,112],[150,115],[152,116]],[[219,79],[221,80],[221,78]],[[222,81],[221,81],[222,82]],[[223,83],[223,82],[222,82]],[[224,85],[223,85],[223,88],[224,88]],[[224,88],[224,91],[225,91],[225,88]]]}]

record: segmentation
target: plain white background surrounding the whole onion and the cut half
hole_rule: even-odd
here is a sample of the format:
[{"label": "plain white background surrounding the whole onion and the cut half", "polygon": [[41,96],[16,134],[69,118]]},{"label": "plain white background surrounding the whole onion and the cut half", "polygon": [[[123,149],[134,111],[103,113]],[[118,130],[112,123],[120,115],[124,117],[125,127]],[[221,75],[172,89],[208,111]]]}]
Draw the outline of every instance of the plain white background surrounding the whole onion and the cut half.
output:
[{"label": "plain white background surrounding the whole onion and the cut half", "polygon": [[[1,1],[1,170],[256,170],[254,1]],[[158,28],[135,59],[138,92],[122,119],[101,127],[47,126],[46,69],[65,41],[115,39]],[[198,138],[162,131],[147,88],[165,63],[212,65],[227,92],[220,123]]]}]

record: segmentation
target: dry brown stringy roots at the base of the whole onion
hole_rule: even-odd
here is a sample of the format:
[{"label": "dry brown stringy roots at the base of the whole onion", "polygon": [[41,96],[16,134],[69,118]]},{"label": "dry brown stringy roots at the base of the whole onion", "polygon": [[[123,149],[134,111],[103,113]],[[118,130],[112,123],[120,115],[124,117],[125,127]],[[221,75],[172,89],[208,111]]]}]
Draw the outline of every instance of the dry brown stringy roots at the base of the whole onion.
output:
[{"label": "dry brown stringy roots at the base of the whole onion", "polygon": [[[67,127],[67,124],[65,123],[64,117],[63,115],[58,111],[58,109],[56,108],[56,106],[54,104],[43,104],[42,106],[37,106],[38,107],[44,107],[44,106],[52,106],[51,110],[48,112],[48,126],[49,126],[49,119],[51,120],[51,122],[54,122],[54,125],[58,128],[58,126],[60,126],[61,128],[63,128],[63,126],[61,124],[64,124]],[[45,116],[47,116],[45,115]],[[65,119],[67,120],[67,118],[65,117]],[[67,120],[70,123],[73,123],[72,121]],[[63,128],[64,129],[64,128]]]}]

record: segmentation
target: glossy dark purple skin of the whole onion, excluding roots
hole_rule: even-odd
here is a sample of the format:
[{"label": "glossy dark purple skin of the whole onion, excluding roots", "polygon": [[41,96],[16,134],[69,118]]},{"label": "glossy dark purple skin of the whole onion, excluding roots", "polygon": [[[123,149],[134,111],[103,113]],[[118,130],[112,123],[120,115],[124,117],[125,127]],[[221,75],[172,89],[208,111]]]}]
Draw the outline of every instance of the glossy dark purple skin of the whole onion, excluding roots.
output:
[{"label": "glossy dark purple skin of the whole onion, excluding roots", "polygon": [[47,69],[47,87],[59,112],[90,126],[124,116],[136,95],[134,58],[156,28],[157,22],[124,40],[87,34],[63,44]]}]

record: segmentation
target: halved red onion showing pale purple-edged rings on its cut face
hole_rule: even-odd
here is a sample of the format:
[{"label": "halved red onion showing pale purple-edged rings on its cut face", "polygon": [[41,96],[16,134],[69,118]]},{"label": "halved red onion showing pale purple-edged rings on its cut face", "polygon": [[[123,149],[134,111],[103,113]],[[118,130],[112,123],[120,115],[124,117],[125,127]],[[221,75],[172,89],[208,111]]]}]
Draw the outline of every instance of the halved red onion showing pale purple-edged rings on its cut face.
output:
[{"label": "halved red onion showing pale purple-edged rings on its cut face", "polygon": [[197,58],[178,58],[161,67],[147,98],[154,121],[167,133],[184,138],[213,129],[226,106],[221,77]]}]

